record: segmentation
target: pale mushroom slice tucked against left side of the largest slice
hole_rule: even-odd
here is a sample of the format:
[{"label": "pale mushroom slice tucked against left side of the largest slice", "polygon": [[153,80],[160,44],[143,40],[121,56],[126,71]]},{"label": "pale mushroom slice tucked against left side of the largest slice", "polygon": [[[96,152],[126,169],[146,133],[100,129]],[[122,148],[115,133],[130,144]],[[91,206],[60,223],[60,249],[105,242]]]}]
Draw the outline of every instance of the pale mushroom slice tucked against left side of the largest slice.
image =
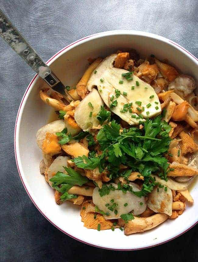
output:
[{"label": "pale mushroom slice tucked against left side of the largest slice", "polygon": [[[93,108],[89,105],[91,103]],[[76,107],[74,119],[83,131],[88,131],[91,128],[97,128],[100,123],[96,116],[101,110],[104,103],[98,91],[94,88]],[[90,116],[90,112],[92,115]]]}]

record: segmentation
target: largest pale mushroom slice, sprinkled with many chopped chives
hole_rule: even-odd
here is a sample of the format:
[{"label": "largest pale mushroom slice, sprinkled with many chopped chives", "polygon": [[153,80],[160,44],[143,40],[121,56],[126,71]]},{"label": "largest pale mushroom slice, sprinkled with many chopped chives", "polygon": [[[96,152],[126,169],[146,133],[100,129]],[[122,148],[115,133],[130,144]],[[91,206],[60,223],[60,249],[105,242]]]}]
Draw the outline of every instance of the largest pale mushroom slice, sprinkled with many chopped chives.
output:
[{"label": "largest pale mushroom slice, sprinkled with many chopped chives", "polygon": [[[93,87],[97,86],[101,98],[108,107],[110,107],[110,104],[112,103],[110,98],[114,95],[113,101],[117,100],[118,104],[117,106],[113,107],[111,111],[130,125],[139,124],[139,120],[132,118],[129,111],[125,113],[120,112],[120,110],[123,109],[124,104],[132,102],[133,109],[136,109],[138,105],[135,102],[141,101],[141,107],[144,107],[144,111],[141,112],[141,114],[144,118],[151,118],[161,113],[160,102],[153,87],[151,87],[148,83],[145,83],[135,75],[131,75],[133,79],[128,81],[124,76],[122,76],[122,74],[128,73],[129,71],[115,68],[113,66],[116,57],[117,54],[112,54],[106,57],[98,65],[98,67],[96,68],[97,72],[93,72],[90,76],[90,79],[87,83],[87,89],[91,91]],[[119,80],[122,80],[123,83],[119,83]],[[136,85],[136,82],[139,83],[139,86]],[[132,86],[135,86],[134,90],[131,89]],[[116,98],[115,96],[116,89],[120,90],[121,92],[121,95],[118,98]],[[123,95],[123,92],[126,92],[127,95]],[[158,102],[158,104],[156,104],[155,102]],[[149,103],[151,104],[151,106],[147,108],[147,105]],[[158,109],[156,109],[157,107]],[[147,111],[149,112],[148,115],[146,113]],[[141,121],[144,121],[144,119],[142,119]]]}]

